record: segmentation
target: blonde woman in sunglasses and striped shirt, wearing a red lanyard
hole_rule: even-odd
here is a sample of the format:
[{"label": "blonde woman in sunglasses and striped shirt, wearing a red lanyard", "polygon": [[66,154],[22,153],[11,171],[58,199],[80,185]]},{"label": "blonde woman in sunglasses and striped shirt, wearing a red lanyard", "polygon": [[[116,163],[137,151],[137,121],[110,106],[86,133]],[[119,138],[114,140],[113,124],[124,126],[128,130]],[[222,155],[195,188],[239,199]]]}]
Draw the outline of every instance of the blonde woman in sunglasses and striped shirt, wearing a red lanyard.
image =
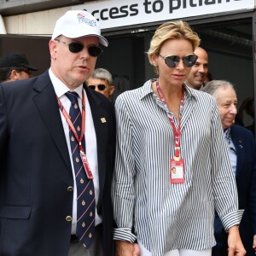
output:
[{"label": "blonde woman in sunglasses and striped shirt, wearing a red lanyard", "polygon": [[118,256],[132,255],[136,240],[142,256],[210,256],[215,210],[229,232],[229,255],[245,254],[218,108],[212,96],[184,84],[199,43],[186,22],[160,26],[148,50],[158,79],[116,100]]}]

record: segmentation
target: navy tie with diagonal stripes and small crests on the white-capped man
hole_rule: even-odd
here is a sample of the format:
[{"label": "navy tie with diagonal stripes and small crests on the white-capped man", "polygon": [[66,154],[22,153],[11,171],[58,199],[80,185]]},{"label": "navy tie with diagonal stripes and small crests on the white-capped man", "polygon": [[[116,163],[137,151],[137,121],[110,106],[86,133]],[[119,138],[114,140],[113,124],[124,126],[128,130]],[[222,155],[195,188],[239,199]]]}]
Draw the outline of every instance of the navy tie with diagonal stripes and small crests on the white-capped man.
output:
[{"label": "navy tie with diagonal stripes and small crests on the white-capped man", "polygon": [[[66,93],[71,102],[69,109],[70,119],[76,129],[78,136],[81,133],[82,117],[79,108],[78,94],[74,91]],[[79,143],[77,142],[73,131],[69,130],[70,145],[73,157],[73,168],[77,183],[77,230],[76,235],[80,241],[84,242],[84,247],[90,247],[95,233],[95,192],[93,180],[86,176],[84,165],[80,157]],[[84,137],[82,145],[84,148]],[[85,149],[84,149],[85,150]]]}]

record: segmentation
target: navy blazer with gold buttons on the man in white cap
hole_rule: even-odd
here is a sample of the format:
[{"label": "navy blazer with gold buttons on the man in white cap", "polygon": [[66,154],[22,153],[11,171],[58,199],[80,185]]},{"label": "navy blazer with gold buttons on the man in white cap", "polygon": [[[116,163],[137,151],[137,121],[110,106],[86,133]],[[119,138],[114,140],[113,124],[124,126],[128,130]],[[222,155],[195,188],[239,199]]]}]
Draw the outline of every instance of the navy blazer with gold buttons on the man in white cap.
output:
[{"label": "navy blazer with gold buttons on the man in white cap", "polygon": [[[84,87],[96,130],[103,253],[112,253],[113,103]],[[102,118],[107,122],[102,122]],[[65,256],[73,172],[49,72],[0,85],[0,255]]]}]

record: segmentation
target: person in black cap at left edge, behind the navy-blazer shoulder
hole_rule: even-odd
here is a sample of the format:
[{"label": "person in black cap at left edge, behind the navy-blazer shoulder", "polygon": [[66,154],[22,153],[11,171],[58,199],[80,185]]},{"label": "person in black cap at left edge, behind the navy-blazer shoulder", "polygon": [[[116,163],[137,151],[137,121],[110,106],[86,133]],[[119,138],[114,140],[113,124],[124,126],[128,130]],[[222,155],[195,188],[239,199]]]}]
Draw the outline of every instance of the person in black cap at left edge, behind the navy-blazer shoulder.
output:
[{"label": "person in black cap at left edge, behind the navy-blazer shoulder", "polygon": [[20,52],[10,52],[0,59],[0,82],[10,82],[32,78],[32,71],[37,67],[29,65],[26,55]]}]

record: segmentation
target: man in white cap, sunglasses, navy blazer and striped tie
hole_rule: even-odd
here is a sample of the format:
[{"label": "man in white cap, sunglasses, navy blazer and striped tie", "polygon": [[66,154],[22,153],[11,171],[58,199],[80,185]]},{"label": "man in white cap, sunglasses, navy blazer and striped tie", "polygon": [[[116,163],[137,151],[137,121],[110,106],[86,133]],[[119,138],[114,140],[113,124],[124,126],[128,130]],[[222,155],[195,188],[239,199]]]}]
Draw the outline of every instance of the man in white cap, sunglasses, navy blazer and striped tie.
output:
[{"label": "man in white cap, sunglasses, navy blazer and striped tie", "polygon": [[[100,33],[88,12],[67,11],[49,40],[49,70],[0,85],[0,255],[112,255],[114,109],[82,85],[95,69],[99,44],[108,45]],[[79,188],[92,184],[80,194],[74,173],[78,165],[76,176],[85,171],[79,153],[73,160],[76,134],[85,138],[79,149],[93,176],[88,184],[87,177],[79,178]],[[81,201],[80,195],[90,198]]]}]

